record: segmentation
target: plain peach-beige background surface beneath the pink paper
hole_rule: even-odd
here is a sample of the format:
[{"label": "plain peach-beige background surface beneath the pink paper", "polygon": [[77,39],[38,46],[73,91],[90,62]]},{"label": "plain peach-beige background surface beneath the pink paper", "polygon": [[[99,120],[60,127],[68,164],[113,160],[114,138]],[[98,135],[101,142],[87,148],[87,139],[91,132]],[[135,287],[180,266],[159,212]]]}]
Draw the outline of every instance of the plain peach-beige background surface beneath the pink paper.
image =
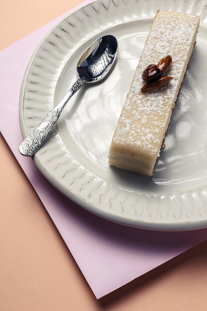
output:
[{"label": "plain peach-beige background surface beneath the pink paper", "polygon": [[[0,49],[79,3],[1,0]],[[206,292],[207,241],[96,300],[0,135],[0,311],[206,311]]]}]

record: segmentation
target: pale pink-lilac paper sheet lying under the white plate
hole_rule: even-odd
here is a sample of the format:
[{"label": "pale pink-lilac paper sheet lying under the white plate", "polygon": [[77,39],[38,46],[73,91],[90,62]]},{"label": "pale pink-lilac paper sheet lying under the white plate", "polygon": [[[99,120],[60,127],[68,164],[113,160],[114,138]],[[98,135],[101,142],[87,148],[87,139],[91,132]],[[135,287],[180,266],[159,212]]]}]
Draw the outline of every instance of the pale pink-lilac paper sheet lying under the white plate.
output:
[{"label": "pale pink-lilac paper sheet lying under the white plate", "polygon": [[0,131],[50,214],[97,298],[207,238],[207,229],[164,233],[124,227],[82,209],[56,190],[31,158],[18,152],[20,84],[46,33],[69,12],[0,52]]}]

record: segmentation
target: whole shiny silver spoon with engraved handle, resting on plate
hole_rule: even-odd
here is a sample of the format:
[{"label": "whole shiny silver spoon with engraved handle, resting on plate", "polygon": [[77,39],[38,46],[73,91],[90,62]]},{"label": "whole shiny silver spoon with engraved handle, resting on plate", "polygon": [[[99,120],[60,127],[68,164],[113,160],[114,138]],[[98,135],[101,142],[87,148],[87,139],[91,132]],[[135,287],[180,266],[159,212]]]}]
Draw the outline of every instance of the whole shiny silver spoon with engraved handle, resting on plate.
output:
[{"label": "whole shiny silver spoon with engraved handle, resting on plate", "polygon": [[52,109],[36,128],[19,145],[23,156],[33,156],[58,120],[61,112],[74,93],[86,83],[105,78],[112,68],[118,52],[117,39],[112,35],[103,36],[93,42],[77,63],[79,79],[72,85],[61,102]]}]

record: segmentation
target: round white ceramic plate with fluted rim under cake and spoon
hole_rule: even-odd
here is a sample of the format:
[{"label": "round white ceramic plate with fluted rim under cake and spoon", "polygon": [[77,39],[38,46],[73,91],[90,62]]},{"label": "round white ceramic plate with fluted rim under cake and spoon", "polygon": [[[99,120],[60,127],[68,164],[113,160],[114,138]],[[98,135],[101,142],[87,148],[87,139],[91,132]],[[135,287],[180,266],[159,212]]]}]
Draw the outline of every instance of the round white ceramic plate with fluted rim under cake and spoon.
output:
[{"label": "round white ceramic plate with fluted rim under cake and spoon", "polygon": [[[157,9],[198,14],[201,27],[153,177],[110,167],[108,151],[152,17]],[[34,156],[70,199],[109,220],[152,230],[207,227],[206,1],[100,0],[72,13],[46,36],[26,70],[20,126],[27,134],[69,90],[76,63],[95,39],[112,34],[118,61],[102,83],[69,101]]]}]

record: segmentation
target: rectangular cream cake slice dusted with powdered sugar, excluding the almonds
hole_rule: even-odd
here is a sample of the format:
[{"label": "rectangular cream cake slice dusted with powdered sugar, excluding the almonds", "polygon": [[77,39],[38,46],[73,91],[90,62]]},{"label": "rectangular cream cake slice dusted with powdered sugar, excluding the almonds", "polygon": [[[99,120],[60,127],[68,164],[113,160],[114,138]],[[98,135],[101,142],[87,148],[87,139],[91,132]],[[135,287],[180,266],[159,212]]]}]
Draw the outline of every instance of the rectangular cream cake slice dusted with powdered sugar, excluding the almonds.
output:
[{"label": "rectangular cream cake slice dusted with powdered sugar, excluding the almonds", "polygon": [[[109,163],[152,176],[172,110],[196,43],[200,17],[158,11],[139,59],[109,152]],[[172,56],[167,76],[172,81],[158,91],[140,91],[143,70]],[[165,75],[166,76],[166,75]]]}]

